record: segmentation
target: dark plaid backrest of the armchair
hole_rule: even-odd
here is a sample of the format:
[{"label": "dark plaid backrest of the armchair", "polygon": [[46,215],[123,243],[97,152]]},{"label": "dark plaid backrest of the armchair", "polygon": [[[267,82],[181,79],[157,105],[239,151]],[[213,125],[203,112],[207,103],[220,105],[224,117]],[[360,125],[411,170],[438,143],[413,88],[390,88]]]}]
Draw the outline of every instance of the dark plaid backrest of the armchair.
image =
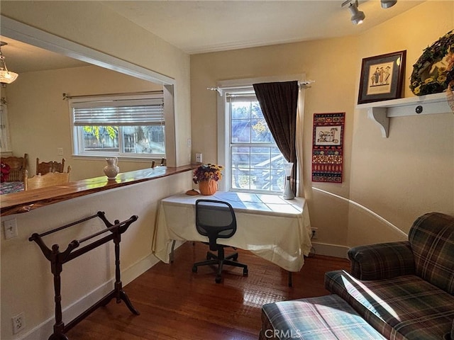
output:
[{"label": "dark plaid backrest of the armchair", "polygon": [[454,295],[454,217],[430,212],[409,231],[416,275]]}]

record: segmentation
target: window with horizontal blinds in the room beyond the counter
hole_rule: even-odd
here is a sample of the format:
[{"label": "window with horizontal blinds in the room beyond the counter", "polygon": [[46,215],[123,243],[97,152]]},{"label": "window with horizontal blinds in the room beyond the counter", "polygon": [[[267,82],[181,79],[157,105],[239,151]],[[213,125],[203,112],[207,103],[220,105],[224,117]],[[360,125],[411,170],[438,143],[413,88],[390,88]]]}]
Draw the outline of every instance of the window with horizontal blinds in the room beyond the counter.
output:
[{"label": "window with horizontal blinds in the room beyond the counter", "polygon": [[165,157],[162,92],[70,99],[74,154]]}]

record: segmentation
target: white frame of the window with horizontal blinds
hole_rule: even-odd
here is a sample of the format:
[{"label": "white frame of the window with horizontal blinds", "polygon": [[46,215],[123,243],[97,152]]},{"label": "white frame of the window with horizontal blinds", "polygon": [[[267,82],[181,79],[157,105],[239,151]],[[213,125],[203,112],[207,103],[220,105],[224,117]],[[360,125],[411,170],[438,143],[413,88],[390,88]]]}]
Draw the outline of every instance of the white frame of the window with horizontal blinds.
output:
[{"label": "white frame of the window with horizontal blinds", "polygon": [[[162,100],[162,120],[164,126],[164,147],[165,153],[133,153],[133,152],[122,152],[124,148],[123,143],[123,133],[121,132],[121,125],[118,125],[118,152],[108,152],[108,151],[99,151],[99,152],[87,152],[84,150],[84,136],[82,131],[82,126],[74,125],[74,113],[73,108],[74,104],[77,103],[87,103],[89,101],[100,102],[100,101],[146,101],[146,100],[155,101],[156,99]],[[71,124],[71,140],[72,140],[72,154],[74,157],[121,157],[122,159],[162,159],[166,158],[167,154],[167,126],[166,126],[166,108],[165,108],[165,96],[164,91],[153,91],[147,94],[113,94],[113,95],[104,95],[104,96],[78,96],[77,98],[69,98],[68,106],[70,111],[70,124]],[[113,124],[114,125],[114,124]],[[109,125],[112,126],[112,125]],[[116,126],[116,125],[114,125]],[[124,125],[124,126],[142,126],[142,125]]]}]

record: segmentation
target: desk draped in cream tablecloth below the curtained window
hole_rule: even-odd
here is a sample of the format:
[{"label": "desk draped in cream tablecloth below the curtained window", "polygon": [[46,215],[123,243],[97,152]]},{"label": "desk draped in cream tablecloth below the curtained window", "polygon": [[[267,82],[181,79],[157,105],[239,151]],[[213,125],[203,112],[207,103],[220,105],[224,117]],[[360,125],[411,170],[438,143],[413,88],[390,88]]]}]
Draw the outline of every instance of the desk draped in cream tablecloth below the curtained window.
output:
[{"label": "desk draped in cream tablecloth below the curtained window", "polygon": [[195,227],[195,201],[231,203],[237,220],[236,234],[220,244],[246,249],[287,271],[299,271],[311,250],[311,224],[304,198],[284,200],[276,195],[217,192],[213,196],[180,194],[161,201],[153,254],[170,262],[172,241],[208,242]]}]

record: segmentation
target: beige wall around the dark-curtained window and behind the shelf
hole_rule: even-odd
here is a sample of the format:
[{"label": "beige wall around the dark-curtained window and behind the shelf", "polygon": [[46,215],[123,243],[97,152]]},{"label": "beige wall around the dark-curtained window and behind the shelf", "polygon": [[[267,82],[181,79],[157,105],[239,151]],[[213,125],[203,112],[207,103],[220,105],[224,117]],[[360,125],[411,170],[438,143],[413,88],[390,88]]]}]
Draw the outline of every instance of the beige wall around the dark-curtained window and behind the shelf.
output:
[{"label": "beige wall around the dark-curtained window and behind the shelf", "polygon": [[[306,90],[303,178],[317,244],[345,254],[348,246],[404,239],[424,212],[454,213],[454,117],[392,118],[389,138],[382,138],[367,112],[355,109],[361,60],[406,50],[407,81],[423,48],[453,28],[454,3],[427,1],[358,37],[192,55],[193,151],[203,152],[206,162],[217,160],[217,94],[206,87],[305,73],[316,81]],[[412,96],[409,89],[405,96]],[[344,181],[311,183],[313,114],[330,112],[346,115]]]}]

